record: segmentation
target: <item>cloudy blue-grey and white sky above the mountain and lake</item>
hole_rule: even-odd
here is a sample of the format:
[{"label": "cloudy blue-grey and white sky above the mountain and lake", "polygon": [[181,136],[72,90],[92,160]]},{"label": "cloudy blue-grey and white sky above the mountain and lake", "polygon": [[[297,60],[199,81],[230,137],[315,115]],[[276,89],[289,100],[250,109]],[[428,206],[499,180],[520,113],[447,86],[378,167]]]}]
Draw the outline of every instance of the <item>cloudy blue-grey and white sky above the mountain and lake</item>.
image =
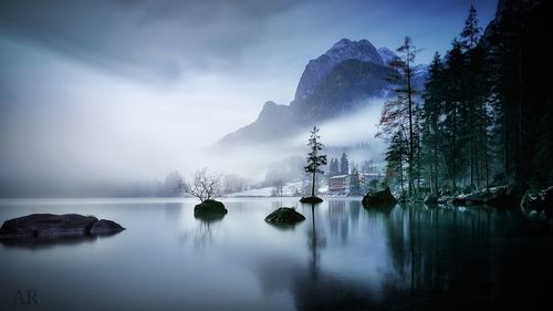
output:
[{"label": "cloudy blue-grey and white sky above the mountain and lake", "polygon": [[427,63],[471,3],[484,27],[495,0],[1,1],[0,178],[186,169],[340,39]]}]

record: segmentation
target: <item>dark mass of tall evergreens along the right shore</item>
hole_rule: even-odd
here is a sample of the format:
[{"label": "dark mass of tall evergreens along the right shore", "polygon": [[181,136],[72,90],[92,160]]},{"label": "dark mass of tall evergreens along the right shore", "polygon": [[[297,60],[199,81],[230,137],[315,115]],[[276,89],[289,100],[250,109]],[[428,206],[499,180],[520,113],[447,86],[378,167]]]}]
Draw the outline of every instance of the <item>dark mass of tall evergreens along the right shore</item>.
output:
[{"label": "dark mass of tall evergreens along the right shore", "polygon": [[389,143],[387,180],[409,195],[552,185],[550,20],[549,1],[500,1],[482,31],[471,7],[450,50],[436,53],[425,90],[411,87],[418,50],[406,38],[378,133]]}]

